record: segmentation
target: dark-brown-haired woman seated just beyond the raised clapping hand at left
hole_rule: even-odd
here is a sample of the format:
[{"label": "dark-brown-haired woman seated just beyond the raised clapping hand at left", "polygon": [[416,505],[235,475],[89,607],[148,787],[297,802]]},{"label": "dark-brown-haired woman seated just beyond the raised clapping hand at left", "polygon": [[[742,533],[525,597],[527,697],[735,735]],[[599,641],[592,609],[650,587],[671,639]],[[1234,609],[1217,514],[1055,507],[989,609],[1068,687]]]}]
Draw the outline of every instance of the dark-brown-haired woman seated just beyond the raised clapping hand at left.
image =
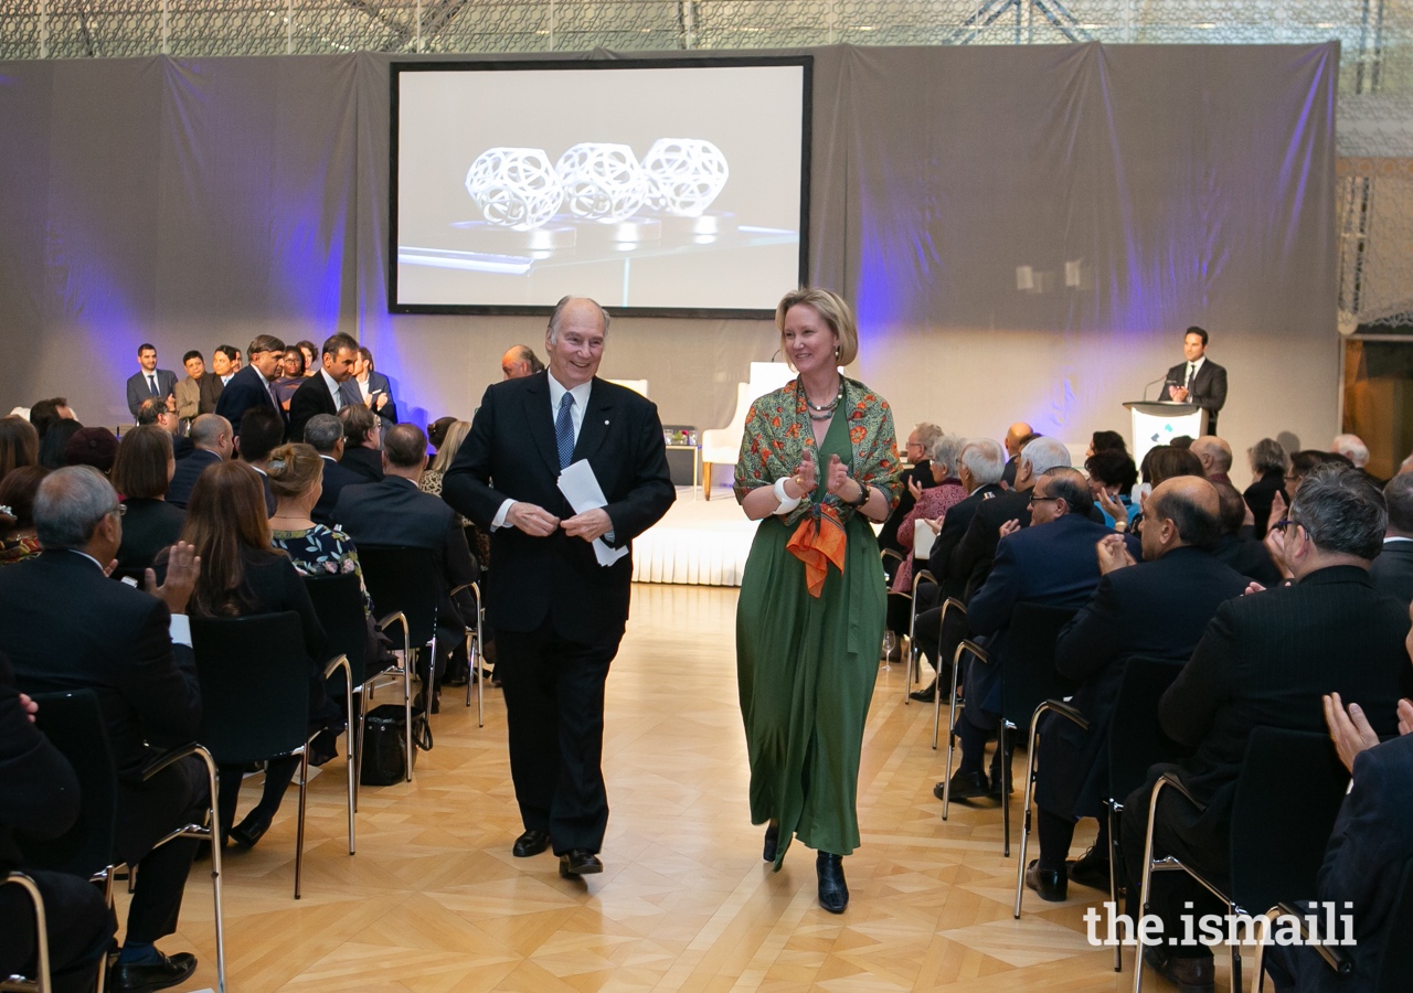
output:
[{"label": "dark-brown-haired woman seated just beyond the raised clapping hand at left", "polygon": [[112,475],[126,509],[114,576],[141,581],[157,552],[181,537],[187,511],[167,503],[175,472],[171,435],[155,424],[140,424],[123,436]]}]

